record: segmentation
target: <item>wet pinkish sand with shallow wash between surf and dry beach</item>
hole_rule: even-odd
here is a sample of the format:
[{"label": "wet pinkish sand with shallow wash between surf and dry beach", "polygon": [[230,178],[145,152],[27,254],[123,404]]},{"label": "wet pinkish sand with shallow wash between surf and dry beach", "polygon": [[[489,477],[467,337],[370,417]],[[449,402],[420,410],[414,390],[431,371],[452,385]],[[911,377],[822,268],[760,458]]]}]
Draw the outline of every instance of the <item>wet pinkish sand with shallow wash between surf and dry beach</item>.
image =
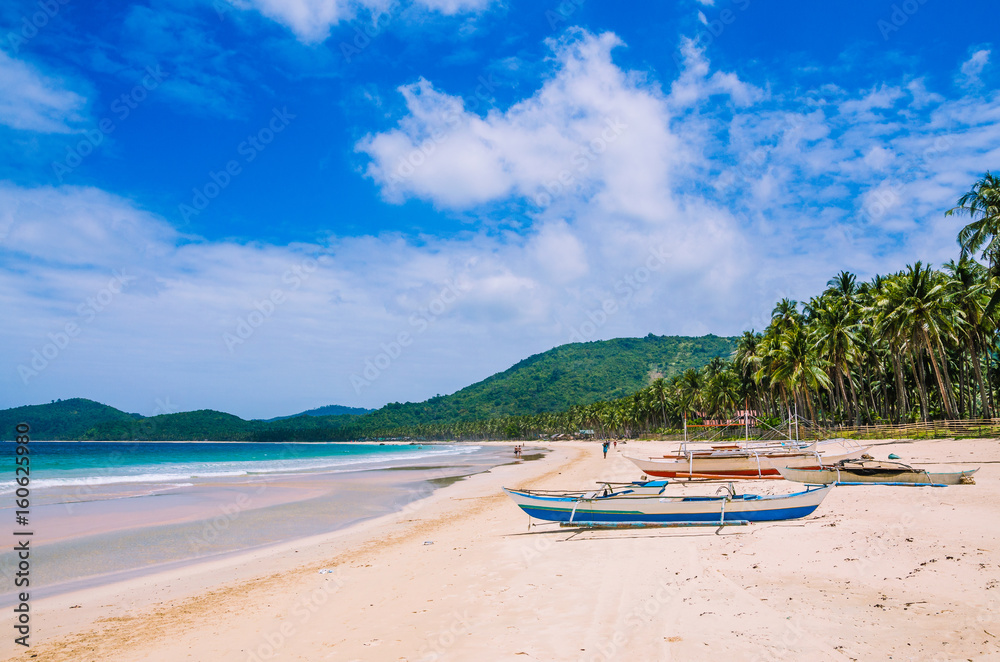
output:
[{"label": "wet pinkish sand with shallow wash between surf and dry beach", "polygon": [[[363,469],[352,465],[187,478],[181,483],[169,479],[81,486],[75,483],[85,479],[74,479],[73,485],[36,489],[32,544],[44,554],[32,560],[32,593],[50,597],[161,569],[176,571],[342,529],[509,461],[498,449],[464,446],[469,452],[396,457],[382,468],[372,468],[386,460],[378,457]],[[5,505],[0,513],[13,519],[10,510]],[[13,575],[16,557],[12,548],[0,553],[5,575]],[[13,581],[8,582],[0,593],[0,607],[17,604],[19,593]]]}]

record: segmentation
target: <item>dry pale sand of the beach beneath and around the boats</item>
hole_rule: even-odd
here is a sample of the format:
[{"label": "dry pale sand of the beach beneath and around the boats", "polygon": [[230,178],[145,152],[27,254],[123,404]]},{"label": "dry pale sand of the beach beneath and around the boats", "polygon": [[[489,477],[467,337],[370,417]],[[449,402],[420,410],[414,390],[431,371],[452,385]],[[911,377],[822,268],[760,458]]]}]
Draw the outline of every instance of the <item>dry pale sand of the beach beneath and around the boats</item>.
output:
[{"label": "dry pale sand of the beach beneath and around the boats", "polygon": [[[808,519],[720,534],[529,530],[500,492],[633,480],[623,451],[674,446],[632,442],[602,459],[595,443],[555,443],[544,460],[497,467],[344,531],[37,600],[33,645],[24,651],[8,634],[0,656],[1000,659],[1000,442],[878,445],[881,459],[982,469],[974,486],[840,487]],[[738,486],[793,491],[783,481]]]}]

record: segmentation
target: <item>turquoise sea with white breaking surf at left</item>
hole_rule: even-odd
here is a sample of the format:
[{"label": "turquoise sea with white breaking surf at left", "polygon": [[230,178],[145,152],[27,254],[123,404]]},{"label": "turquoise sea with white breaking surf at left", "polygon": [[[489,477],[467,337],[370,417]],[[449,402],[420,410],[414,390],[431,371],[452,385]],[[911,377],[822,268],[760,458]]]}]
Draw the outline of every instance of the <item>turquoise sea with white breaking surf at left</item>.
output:
[{"label": "turquoise sea with white breaking surf at left", "polygon": [[[3,448],[6,447],[6,448]],[[0,449],[13,457],[15,444]],[[31,489],[128,483],[184,484],[194,479],[340,473],[447,461],[479,450],[444,444],[31,442]],[[0,451],[2,452],[2,451]],[[16,489],[13,471],[0,496]]]}]

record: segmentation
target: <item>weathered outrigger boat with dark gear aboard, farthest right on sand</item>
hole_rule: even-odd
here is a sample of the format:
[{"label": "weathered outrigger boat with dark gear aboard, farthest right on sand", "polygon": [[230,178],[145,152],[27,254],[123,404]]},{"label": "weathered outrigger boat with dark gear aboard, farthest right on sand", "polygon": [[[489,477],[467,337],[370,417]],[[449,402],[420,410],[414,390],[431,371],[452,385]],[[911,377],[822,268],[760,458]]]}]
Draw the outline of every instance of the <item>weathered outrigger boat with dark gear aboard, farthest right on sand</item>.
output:
[{"label": "weathered outrigger boat with dark gear aboard, farthest right on sand", "polygon": [[786,480],[813,485],[965,485],[975,483],[972,474],[979,471],[967,469],[947,473],[915,469],[902,462],[883,462],[861,459],[844,460],[829,467],[778,469]]}]

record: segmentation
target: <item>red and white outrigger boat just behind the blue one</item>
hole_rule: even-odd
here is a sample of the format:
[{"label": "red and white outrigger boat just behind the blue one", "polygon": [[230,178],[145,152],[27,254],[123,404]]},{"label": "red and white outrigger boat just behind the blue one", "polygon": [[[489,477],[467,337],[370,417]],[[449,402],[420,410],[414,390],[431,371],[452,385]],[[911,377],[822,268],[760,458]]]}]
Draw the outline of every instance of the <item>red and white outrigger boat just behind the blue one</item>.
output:
[{"label": "red and white outrigger boat just behind the blue one", "polygon": [[[648,459],[625,457],[643,473],[657,478],[774,478],[781,479],[779,467],[811,468],[861,457],[870,447],[849,446],[848,440],[814,442],[808,446],[761,445],[690,449],[682,445],[677,453]],[[836,447],[835,447],[836,446]],[[839,447],[839,448],[837,448]],[[839,452],[836,452],[838,451]]]}]

